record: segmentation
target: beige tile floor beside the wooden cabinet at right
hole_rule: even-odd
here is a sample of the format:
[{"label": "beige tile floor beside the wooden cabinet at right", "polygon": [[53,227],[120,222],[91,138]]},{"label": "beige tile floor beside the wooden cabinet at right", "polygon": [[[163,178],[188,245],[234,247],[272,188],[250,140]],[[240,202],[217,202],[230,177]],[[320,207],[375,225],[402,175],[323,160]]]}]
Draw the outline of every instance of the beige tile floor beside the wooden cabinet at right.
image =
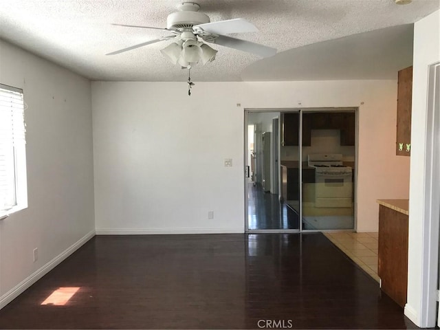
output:
[{"label": "beige tile floor beside the wooden cabinet at right", "polygon": [[326,232],[325,236],[377,282],[377,232]]}]

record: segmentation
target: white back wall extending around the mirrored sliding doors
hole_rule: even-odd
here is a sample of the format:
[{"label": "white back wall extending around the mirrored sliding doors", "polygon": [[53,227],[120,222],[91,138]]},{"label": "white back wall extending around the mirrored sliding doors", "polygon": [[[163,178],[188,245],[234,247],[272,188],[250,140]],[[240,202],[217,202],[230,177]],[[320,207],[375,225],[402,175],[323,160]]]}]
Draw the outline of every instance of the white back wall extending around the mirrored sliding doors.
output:
[{"label": "white back wall extending around the mirrored sliding doors", "polygon": [[376,199],[408,198],[396,98],[395,80],[197,83],[190,97],[184,83],[94,82],[97,232],[243,232],[243,108],[292,109],[298,100],[360,107],[358,231],[377,230]]}]

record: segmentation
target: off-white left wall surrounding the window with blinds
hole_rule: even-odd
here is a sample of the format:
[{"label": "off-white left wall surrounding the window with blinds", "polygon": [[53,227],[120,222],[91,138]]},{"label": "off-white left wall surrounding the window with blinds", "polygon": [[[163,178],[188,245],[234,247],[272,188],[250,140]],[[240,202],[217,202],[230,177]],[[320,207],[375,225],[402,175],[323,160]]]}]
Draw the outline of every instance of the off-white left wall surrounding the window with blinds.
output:
[{"label": "off-white left wall surrounding the window with blinds", "polygon": [[93,236],[94,184],[89,80],[0,41],[0,83],[28,105],[28,209],[0,221],[1,308]]}]

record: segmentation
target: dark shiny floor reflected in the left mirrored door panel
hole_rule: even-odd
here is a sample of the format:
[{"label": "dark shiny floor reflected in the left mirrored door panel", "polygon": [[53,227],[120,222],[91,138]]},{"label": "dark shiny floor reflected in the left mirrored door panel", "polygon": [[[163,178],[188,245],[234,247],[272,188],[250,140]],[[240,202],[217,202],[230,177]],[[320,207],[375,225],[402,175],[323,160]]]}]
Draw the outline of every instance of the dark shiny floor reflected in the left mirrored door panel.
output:
[{"label": "dark shiny floor reflected in the left mirrored door panel", "polygon": [[248,185],[248,224],[250,230],[298,229],[299,217],[278,195],[264,192],[261,184]]}]

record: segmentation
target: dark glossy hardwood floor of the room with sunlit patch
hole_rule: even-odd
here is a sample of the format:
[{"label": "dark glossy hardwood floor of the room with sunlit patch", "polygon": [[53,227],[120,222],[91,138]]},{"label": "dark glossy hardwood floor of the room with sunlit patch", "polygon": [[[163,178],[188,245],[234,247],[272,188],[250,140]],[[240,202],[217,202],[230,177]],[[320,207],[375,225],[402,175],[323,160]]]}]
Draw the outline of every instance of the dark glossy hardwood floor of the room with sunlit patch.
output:
[{"label": "dark glossy hardwood floor of the room with sunlit patch", "polygon": [[[80,289],[41,305],[60,287]],[[417,329],[320,233],[95,236],[0,311],[1,329],[282,326]]]}]

